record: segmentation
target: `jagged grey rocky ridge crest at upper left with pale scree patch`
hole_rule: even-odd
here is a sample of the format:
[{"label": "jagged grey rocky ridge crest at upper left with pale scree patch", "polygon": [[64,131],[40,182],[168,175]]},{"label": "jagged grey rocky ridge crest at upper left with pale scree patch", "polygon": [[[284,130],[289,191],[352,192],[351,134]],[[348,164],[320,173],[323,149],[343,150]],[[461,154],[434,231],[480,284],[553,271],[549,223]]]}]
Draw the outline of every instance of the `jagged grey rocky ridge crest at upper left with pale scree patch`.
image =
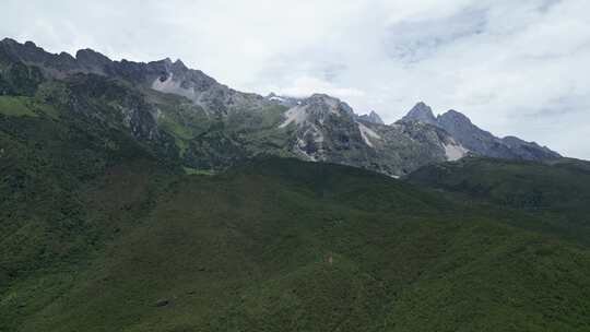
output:
[{"label": "jagged grey rocky ridge crest at upper left with pale scree patch", "polygon": [[76,52],[76,57],[62,52],[52,55],[27,42],[13,39],[0,42],[0,59],[22,61],[39,66],[45,74],[64,78],[74,73],[95,73],[114,76],[140,86],[189,98],[212,114],[224,115],[234,110],[251,110],[267,107],[270,102],[256,94],[241,93],[220,84],[200,70],[187,68],[182,61],[170,59],[149,63],[128,60],[111,61],[92,49]]}]

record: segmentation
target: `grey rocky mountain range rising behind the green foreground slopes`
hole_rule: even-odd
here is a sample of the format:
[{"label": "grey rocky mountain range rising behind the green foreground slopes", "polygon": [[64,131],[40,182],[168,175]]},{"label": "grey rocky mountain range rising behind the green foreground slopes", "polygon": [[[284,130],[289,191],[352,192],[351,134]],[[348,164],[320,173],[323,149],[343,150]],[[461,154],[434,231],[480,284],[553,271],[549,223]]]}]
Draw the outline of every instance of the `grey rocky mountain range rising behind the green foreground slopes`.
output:
[{"label": "grey rocky mountain range rising behind the green foreground slopes", "polygon": [[[220,84],[180,60],[111,61],[91,50],[75,57],[46,52],[32,42],[0,42],[1,93],[44,91],[45,102],[92,112],[87,98],[111,97],[131,133],[177,154],[187,167],[223,169],[258,155],[330,162],[400,177],[421,166],[468,154],[551,159],[559,154],[518,138],[499,139],[449,110],[434,117],[418,103],[400,121],[385,124],[371,111],[357,115],[322,94],[293,98],[243,93]],[[24,86],[21,86],[24,85]],[[66,85],[68,96],[55,94]],[[96,85],[79,95],[76,86]],[[85,91],[84,91],[85,93]],[[132,100],[131,100],[132,99]],[[91,116],[96,116],[92,115]],[[177,151],[169,146],[174,141]],[[231,153],[227,153],[231,152]]]}]

